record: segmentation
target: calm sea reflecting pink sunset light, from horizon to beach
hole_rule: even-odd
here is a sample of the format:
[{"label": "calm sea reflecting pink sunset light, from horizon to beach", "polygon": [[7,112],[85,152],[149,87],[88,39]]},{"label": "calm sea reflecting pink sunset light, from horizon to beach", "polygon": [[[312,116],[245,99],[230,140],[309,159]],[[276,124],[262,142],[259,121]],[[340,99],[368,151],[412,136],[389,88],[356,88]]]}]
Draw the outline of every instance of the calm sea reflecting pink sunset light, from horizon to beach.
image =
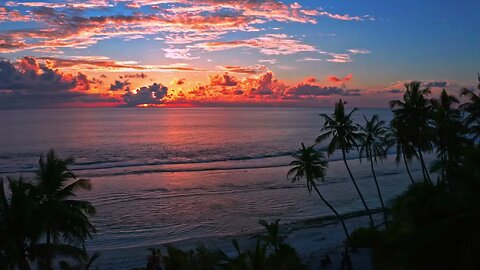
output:
[{"label": "calm sea reflecting pink sunset light, from horizon to beach", "polygon": [[[81,194],[98,211],[90,250],[239,235],[258,230],[259,218],[286,223],[330,215],[285,177],[300,142],[311,144],[319,134],[322,112],[331,110],[0,111],[0,176],[30,175],[49,148],[74,156],[77,174],[94,185]],[[363,109],[356,121],[374,113],[391,119],[389,110]],[[368,204],[378,206],[369,167],[349,158]],[[322,191],[342,212],[361,209],[338,155],[330,159]],[[408,184],[403,173],[391,159],[378,167],[387,198]]]}]

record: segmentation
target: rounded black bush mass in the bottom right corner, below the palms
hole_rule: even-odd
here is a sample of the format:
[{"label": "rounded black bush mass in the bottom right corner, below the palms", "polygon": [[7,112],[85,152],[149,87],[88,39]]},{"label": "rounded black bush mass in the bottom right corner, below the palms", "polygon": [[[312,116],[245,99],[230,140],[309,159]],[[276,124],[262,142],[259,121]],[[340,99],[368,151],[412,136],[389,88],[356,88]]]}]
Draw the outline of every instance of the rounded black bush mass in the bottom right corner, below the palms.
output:
[{"label": "rounded black bush mass in the bottom right corner, below the palms", "polygon": [[394,201],[374,249],[377,269],[480,269],[480,200],[468,190],[418,183]]}]

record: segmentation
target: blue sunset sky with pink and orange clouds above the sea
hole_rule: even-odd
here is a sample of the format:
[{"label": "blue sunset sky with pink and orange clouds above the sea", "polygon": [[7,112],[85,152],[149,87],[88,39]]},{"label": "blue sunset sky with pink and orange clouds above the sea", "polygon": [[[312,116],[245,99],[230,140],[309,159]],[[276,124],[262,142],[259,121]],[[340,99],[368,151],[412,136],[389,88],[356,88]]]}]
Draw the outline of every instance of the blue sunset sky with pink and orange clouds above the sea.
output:
[{"label": "blue sunset sky with pink and orange clouds above the sea", "polygon": [[478,0],[0,1],[0,109],[387,107],[480,71]]}]

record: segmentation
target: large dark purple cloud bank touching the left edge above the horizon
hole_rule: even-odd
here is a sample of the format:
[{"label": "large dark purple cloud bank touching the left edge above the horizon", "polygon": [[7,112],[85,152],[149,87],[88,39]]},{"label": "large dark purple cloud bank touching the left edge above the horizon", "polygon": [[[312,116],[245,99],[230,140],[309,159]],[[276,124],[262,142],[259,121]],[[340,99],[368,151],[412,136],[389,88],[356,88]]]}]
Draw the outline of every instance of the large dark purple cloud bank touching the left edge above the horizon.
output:
[{"label": "large dark purple cloud bank touching the left edge above the horizon", "polygon": [[74,102],[112,102],[90,94],[85,74],[62,73],[34,57],[0,60],[0,108],[58,107]]}]

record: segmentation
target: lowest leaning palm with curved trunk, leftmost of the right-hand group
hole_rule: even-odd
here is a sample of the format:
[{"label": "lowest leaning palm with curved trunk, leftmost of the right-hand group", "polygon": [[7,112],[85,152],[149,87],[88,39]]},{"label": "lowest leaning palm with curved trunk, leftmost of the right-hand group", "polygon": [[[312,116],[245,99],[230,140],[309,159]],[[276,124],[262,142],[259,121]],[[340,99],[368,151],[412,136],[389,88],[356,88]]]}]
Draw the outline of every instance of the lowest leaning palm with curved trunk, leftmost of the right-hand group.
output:
[{"label": "lowest leaning palm with curved trunk, leftmost of the right-hand group", "polygon": [[325,182],[325,174],[328,168],[328,162],[324,159],[323,154],[315,150],[314,146],[305,147],[302,143],[302,148],[300,148],[297,153],[293,155],[295,158],[294,161],[290,163],[291,168],[287,177],[292,180],[292,182],[297,182],[305,178],[307,181],[308,192],[312,192],[312,189],[315,189],[318,197],[325,203],[325,205],[332,210],[337,219],[342,224],[343,231],[348,240],[350,240],[350,235],[345,226],[343,218],[338,214],[337,210],[323,197],[320,190],[318,190],[317,185],[319,182]]}]

